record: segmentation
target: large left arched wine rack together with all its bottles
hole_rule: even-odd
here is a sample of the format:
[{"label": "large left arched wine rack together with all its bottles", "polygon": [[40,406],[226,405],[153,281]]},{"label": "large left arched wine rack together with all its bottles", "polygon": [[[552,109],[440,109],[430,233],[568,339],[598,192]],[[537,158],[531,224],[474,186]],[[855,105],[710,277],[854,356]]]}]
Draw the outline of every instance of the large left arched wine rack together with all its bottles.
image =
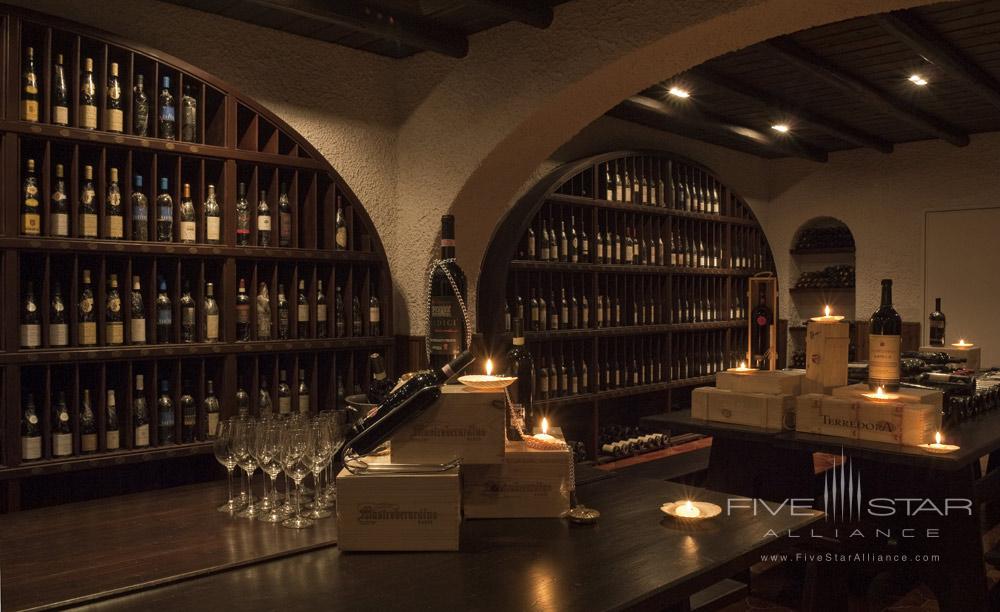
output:
[{"label": "large left arched wine rack together with all its bottles", "polygon": [[208,454],[219,418],[365,384],[391,279],[323,157],[179,59],[0,19],[0,482]]}]

